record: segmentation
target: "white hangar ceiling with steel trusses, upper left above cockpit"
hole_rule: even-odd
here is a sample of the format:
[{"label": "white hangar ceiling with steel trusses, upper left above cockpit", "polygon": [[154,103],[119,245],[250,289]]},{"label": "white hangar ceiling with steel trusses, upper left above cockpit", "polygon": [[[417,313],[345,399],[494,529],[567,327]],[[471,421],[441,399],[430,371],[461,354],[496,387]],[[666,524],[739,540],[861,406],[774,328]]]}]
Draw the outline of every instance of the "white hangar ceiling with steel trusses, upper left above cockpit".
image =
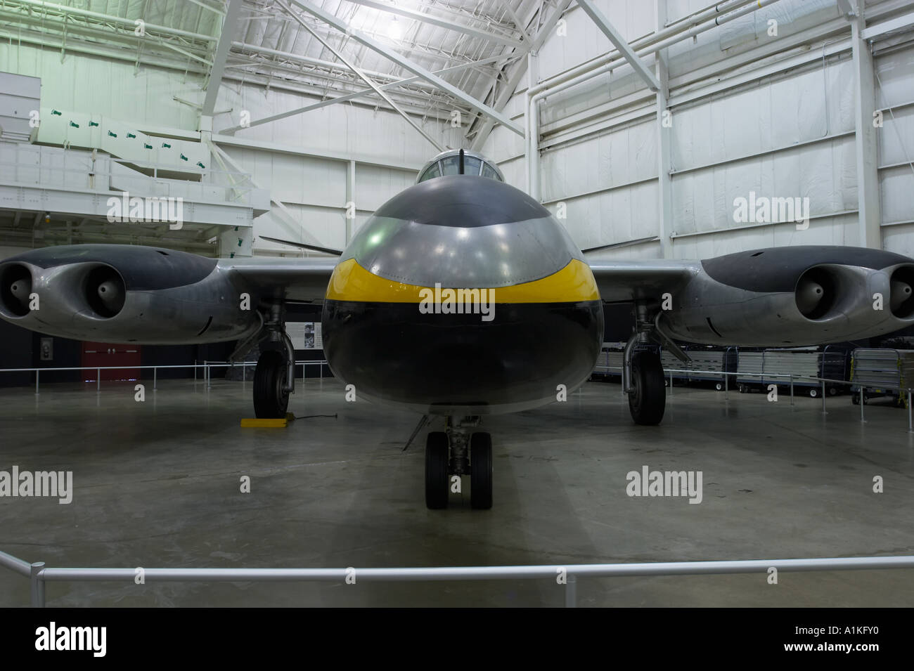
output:
[{"label": "white hangar ceiling with steel trusses, upper left above cockpit", "polygon": [[182,101],[207,115],[220,113],[219,87],[246,82],[316,96],[314,106],[348,101],[441,121],[456,110],[466,135],[478,140],[496,123],[523,133],[502,114],[505,103],[526,70],[527,53],[569,0],[283,5],[285,0],[0,0],[0,38],[56,49],[61,59],[80,53],[131,62],[137,71],[168,68],[196,76],[197,100]]}]

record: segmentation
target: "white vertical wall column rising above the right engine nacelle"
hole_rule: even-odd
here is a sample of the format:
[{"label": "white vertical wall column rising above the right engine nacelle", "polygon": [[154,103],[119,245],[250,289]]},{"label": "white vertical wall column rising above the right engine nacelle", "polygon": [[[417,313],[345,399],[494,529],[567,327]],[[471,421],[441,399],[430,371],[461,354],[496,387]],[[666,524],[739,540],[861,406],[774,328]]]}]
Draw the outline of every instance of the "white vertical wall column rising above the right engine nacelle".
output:
[{"label": "white vertical wall column rising above the right engine nacelle", "polygon": [[851,55],[856,79],[854,102],[855,150],[857,173],[857,210],[859,211],[859,244],[882,248],[879,224],[882,211],[879,203],[879,174],[876,133],[873,112],[876,111],[873,53],[860,37],[865,27],[864,0],[857,0],[856,16],[851,17]]}]

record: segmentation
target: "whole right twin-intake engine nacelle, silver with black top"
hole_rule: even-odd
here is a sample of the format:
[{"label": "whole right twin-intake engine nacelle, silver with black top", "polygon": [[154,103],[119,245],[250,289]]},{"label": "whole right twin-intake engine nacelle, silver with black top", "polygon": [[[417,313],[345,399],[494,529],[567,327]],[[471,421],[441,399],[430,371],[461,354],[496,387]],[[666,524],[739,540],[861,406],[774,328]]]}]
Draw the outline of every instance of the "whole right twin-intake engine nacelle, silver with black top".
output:
[{"label": "whole right twin-intake engine nacelle, silver with black top", "polygon": [[702,262],[664,312],[676,339],[742,346],[868,338],[914,324],[914,265],[877,249],[778,247]]}]

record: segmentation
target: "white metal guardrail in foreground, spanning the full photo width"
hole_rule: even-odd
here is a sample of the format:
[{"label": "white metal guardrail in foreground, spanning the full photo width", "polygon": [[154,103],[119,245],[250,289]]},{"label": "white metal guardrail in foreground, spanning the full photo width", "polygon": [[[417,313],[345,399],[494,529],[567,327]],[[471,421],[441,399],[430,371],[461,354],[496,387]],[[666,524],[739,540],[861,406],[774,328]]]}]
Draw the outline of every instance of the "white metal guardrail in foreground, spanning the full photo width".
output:
[{"label": "white metal guardrail in foreground, spanning the full photo width", "polygon": [[[48,568],[0,551],[0,566],[31,582],[33,607],[45,605],[46,582],[135,582],[137,569]],[[828,557],[821,559],[656,561],[616,564],[537,566],[451,566],[402,569],[143,569],[150,582],[438,582],[475,580],[554,580],[565,587],[565,606],[578,603],[578,578],[622,576],[716,575],[781,571],[872,571],[914,569],[914,556]],[[561,580],[564,579],[564,582]]]}]

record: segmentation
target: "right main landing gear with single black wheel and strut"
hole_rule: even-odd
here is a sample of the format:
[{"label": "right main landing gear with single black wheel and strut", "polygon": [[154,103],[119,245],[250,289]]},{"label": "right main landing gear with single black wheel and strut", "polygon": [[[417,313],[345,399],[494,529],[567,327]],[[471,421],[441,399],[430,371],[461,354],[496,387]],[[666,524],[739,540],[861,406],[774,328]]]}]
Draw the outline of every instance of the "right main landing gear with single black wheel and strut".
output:
[{"label": "right main landing gear with single black wheel and strut", "polygon": [[622,364],[622,389],[628,395],[629,412],[635,424],[658,425],[666,409],[664,366],[660,354],[652,349],[636,349],[639,345],[662,344],[683,362],[690,361],[688,355],[664,333],[660,320],[662,312],[656,312],[651,319],[648,306],[635,304],[635,329],[625,343]]}]

